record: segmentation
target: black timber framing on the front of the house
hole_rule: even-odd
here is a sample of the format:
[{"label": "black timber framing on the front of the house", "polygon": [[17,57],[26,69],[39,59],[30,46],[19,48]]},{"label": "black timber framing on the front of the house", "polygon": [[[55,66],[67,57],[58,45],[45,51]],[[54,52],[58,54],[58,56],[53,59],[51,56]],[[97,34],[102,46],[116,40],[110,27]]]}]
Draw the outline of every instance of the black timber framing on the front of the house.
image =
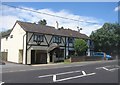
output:
[{"label": "black timber framing on the front of the house", "polygon": [[[31,35],[31,37],[30,37],[29,39],[28,39],[28,33],[32,33],[32,35]],[[67,43],[69,36],[53,35],[53,34],[43,34],[44,39],[45,39],[47,45],[29,44],[30,40],[32,39],[32,37],[33,37],[33,35],[34,35],[35,33],[36,33],[36,34],[43,34],[43,33],[37,33],[37,32],[26,32],[26,61],[25,61],[25,64],[27,64],[27,51],[28,51],[28,49],[29,49],[31,46],[46,46],[46,47],[49,47],[50,44],[53,43],[52,40],[53,40],[54,36],[61,36],[61,41],[63,42],[64,46],[60,46],[60,47],[64,47],[64,48],[65,48],[65,59],[66,59],[66,51],[67,51],[67,50],[69,51],[69,48],[74,48],[74,44],[73,44],[73,46],[69,46],[69,42]],[[48,42],[48,40],[47,40],[47,38],[46,38],[45,35],[51,35],[51,36],[52,36],[49,42]],[[65,38],[65,40],[64,40],[63,38]],[[74,37],[74,38],[77,38],[77,37]],[[77,39],[79,39],[79,38],[77,38]],[[28,46],[29,46],[29,47],[28,47]],[[24,46],[23,46],[23,47],[24,47]],[[68,48],[68,49],[67,49],[67,48]]]}]

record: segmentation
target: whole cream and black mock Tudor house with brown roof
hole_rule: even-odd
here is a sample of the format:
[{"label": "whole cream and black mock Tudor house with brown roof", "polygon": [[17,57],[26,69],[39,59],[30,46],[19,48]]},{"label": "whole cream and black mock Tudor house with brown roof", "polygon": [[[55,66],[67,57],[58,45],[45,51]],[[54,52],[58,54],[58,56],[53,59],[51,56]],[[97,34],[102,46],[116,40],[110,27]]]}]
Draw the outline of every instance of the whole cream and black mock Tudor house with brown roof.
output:
[{"label": "whole cream and black mock Tudor house with brown roof", "polygon": [[[55,29],[35,23],[16,21],[12,30],[1,39],[1,52],[7,61],[22,64],[47,64],[64,60],[74,54],[75,38],[90,39],[71,29]],[[90,48],[88,48],[88,56]]]}]

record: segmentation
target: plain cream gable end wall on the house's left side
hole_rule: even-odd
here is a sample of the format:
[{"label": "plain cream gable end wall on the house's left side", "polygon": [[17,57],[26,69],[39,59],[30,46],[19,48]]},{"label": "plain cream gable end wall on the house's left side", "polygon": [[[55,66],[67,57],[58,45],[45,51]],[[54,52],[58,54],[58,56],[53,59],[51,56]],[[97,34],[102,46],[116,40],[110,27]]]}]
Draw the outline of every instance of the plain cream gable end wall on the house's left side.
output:
[{"label": "plain cream gable end wall on the house's left side", "polygon": [[[16,23],[8,39],[2,39],[1,50],[8,49],[8,61],[19,63],[19,50],[23,49],[23,35],[25,31]],[[13,36],[11,38],[11,36]]]}]

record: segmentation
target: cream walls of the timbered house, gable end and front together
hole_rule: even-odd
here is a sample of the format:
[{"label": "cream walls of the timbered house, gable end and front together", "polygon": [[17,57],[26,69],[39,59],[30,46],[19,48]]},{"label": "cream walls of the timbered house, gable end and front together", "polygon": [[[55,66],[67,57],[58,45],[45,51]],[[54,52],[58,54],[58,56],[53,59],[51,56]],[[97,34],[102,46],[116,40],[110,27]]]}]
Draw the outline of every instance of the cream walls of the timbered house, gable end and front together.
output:
[{"label": "cream walls of the timbered house, gable end and front together", "polygon": [[[54,35],[43,34],[46,38],[44,38],[44,42],[41,42],[41,44],[38,45],[33,41],[33,34],[34,33],[26,33],[20,25],[16,23],[9,37],[1,39],[1,51],[8,51],[8,61],[19,63],[19,50],[23,50],[23,64],[31,64],[31,50],[45,50],[48,56],[47,61],[49,62],[49,53],[47,50],[53,44],[52,37]],[[13,38],[11,38],[11,35]],[[74,50],[74,48],[72,43],[68,43],[68,37],[61,37],[62,41],[58,45],[60,46],[60,49],[64,50],[63,57],[65,58],[69,55],[69,50]]]}]

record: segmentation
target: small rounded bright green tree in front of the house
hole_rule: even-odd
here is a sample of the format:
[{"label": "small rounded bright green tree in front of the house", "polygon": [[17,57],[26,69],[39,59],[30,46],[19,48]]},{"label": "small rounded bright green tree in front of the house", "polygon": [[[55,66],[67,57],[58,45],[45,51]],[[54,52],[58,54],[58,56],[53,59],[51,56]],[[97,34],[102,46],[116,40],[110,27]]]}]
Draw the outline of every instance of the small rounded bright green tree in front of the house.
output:
[{"label": "small rounded bright green tree in front of the house", "polygon": [[77,55],[84,55],[88,46],[85,40],[83,39],[75,39],[74,49]]}]

